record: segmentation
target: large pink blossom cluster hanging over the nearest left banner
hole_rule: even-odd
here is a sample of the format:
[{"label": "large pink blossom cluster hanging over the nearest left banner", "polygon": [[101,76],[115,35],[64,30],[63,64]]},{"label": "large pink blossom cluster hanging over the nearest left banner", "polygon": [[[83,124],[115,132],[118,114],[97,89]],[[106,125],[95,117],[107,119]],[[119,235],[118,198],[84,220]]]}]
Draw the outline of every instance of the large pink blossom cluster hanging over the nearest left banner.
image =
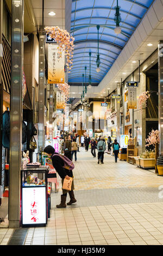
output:
[{"label": "large pink blossom cluster hanging over the nearest left banner", "polygon": [[57,27],[46,27],[46,33],[49,33],[51,38],[54,38],[58,46],[58,51],[61,57],[63,51],[65,51],[65,56],[67,58],[67,69],[71,70],[72,60],[73,60],[73,50],[74,50],[74,38],[70,33],[64,29]]}]

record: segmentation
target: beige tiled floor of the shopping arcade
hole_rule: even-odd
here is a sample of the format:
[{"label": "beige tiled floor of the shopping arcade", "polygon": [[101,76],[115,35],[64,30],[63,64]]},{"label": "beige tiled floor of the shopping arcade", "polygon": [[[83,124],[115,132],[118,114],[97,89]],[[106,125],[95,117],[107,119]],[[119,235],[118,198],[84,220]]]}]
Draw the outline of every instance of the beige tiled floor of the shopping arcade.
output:
[{"label": "beige tiled floor of the shopping arcade", "polygon": [[[80,151],[77,203],[57,209],[61,192],[53,193],[47,227],[29,228],[24,245],[163,245],[163,178],[106,154],[97,164],[90,151]],[[12,231],[0,229],[0,244]]]}]

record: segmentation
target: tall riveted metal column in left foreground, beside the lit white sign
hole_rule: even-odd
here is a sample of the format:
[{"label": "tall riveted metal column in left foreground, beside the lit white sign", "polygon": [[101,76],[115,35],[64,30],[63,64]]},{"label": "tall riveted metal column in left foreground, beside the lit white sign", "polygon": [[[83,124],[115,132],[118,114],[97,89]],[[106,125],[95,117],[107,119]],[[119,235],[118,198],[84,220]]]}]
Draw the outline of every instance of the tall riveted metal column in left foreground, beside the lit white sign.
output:
[{"label": "tall riveted metal column in left foreground, beside the lit white sign", "polygon": [[20,227],[24,0],[12,0],[9,228]]}]

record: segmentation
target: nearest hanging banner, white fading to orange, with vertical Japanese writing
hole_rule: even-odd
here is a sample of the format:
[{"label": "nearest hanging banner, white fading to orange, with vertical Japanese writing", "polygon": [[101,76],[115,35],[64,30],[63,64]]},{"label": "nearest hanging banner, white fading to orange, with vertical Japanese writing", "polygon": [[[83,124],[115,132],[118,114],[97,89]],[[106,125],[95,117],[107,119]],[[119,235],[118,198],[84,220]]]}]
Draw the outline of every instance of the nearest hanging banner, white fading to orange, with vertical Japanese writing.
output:
[{"label": "nearest hanging banner, white fading to orange, with vertical Japanese writing", "polygon": [[48,45],[48,83],[65,83],[65,52],[60,57],[58,45]]}]

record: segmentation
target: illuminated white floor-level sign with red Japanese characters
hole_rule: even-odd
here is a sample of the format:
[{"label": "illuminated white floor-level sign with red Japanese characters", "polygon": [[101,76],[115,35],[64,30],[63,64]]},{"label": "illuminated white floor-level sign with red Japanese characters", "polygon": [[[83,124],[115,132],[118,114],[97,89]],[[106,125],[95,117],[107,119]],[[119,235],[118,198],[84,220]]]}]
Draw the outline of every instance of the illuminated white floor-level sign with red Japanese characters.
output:
[{"label": "illuminated white floor-level sign with red Japanese characters", "polygon": [[46,224],[46,187],[22,188],[22,224]]}]

